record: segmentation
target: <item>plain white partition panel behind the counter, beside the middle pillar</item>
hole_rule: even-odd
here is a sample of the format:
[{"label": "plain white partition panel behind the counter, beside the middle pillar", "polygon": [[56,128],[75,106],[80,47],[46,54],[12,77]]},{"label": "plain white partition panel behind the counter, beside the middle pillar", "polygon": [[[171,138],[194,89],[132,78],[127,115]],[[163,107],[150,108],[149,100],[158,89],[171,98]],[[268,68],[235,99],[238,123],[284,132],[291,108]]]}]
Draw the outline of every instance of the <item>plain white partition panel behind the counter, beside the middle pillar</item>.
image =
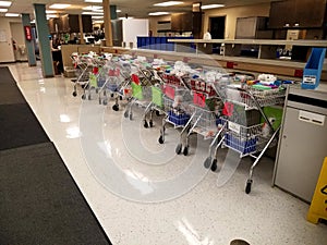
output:
[{"label": "plain white partition panel behind the counter, beside the middle pillar", "polygon": [[123,20],[123,41],[129,47],[130,42],[137,45],[137,36],[148,36],[148,20],[131,19]]}]

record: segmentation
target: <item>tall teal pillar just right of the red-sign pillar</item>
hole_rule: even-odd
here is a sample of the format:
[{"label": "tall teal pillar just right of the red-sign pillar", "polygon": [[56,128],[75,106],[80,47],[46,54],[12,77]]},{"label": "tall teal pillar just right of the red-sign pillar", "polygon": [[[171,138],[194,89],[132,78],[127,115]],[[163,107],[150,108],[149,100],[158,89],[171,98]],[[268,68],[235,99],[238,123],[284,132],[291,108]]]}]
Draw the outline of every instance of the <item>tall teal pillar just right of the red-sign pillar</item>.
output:
[{"label": "tall teal pillar just right of the red-sign pillar", "polygon": [[38,45],[44,77],[53,77],[53,62],[49,40],[49,26],[46,17],[46,5],[34,3],[35,24],[38,35]]}]

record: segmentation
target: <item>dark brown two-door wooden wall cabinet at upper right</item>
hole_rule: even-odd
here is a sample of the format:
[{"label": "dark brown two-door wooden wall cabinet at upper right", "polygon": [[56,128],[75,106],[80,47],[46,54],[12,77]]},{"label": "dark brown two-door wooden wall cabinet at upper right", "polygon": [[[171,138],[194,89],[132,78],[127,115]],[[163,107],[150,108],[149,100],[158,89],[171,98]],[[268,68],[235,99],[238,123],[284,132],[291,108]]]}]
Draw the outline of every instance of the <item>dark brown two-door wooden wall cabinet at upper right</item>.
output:
[{"label": "dark brown two-door wooden wall cabinet at upper right", "polygon": [[270,28],[323,27],[326,0],[288,0],[270,4]]}]

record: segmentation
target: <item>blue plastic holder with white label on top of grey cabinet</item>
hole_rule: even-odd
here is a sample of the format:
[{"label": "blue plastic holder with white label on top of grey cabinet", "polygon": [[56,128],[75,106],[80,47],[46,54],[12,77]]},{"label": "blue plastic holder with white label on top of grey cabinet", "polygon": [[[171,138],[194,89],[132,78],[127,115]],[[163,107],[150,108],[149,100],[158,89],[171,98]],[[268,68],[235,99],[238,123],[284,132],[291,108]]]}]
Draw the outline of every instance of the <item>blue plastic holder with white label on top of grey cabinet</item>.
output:
[{"label": "blue plastic holder with white label on top of grey cabinet", "polygon": [[326,48],[312,49],[303,71],[302,88],[315,89],[319,85],[325,56]]}]

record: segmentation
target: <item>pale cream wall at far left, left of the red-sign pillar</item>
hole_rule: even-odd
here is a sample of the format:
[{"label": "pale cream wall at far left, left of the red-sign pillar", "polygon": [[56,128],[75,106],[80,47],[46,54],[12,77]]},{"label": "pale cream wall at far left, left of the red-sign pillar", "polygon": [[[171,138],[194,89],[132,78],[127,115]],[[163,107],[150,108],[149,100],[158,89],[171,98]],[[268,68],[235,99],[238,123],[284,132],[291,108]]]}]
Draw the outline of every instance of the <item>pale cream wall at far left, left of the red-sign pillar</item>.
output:
[{"label": "pale cream wall at far left, left of the red-sign pillar", "polygon": [[11,22],[20,22],[20,19],[0,17],[0,62],[15,61],[12,47],[12,33],[10,28]]}]

